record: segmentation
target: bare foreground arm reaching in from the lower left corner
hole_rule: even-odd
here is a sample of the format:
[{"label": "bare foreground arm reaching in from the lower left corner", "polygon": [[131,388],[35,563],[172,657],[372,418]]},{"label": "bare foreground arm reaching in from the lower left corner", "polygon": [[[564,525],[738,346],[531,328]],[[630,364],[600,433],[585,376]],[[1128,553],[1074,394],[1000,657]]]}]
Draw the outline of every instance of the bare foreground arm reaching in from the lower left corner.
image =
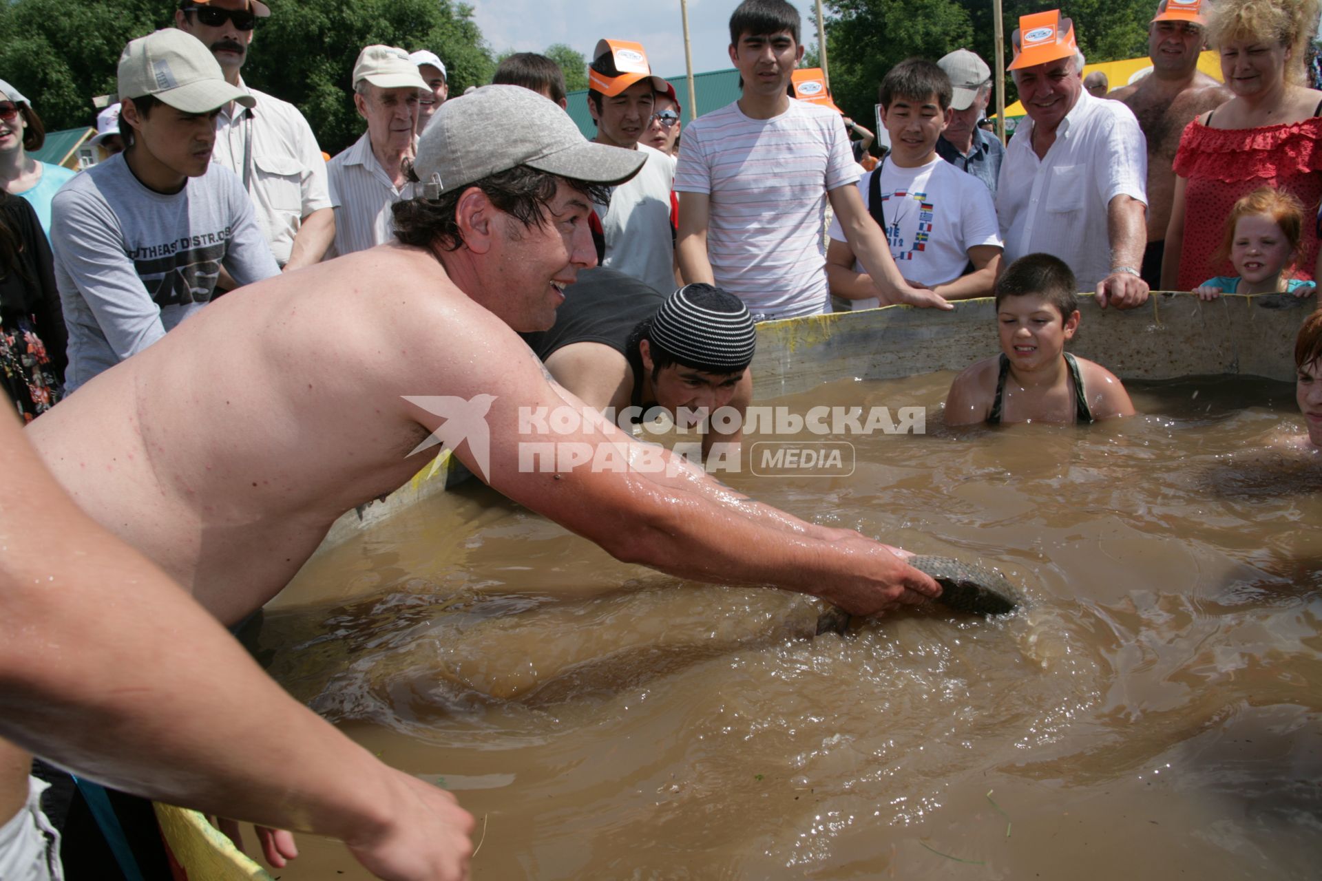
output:
[{"label": "bare foreground arm reaching in from the lower left corner", "polygon": [[290,697],[78,510],[9,419],[0,453],[0,736],[128,793],[341,839],[382,878],[465,877],[453,796]]}]

